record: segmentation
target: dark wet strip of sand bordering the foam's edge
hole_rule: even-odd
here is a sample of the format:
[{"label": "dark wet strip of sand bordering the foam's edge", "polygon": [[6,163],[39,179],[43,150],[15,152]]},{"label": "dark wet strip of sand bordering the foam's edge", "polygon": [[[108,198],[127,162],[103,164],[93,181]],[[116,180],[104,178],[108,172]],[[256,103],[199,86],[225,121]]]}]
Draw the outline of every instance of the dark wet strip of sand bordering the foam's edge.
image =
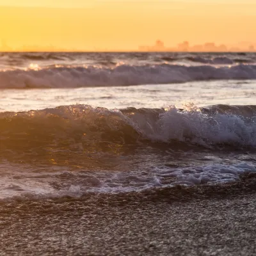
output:
[{"label": "dark wet strip of sand bordering the foam's edge", "polygon": [[[17,205],[37,205],[38,204],[61,204],[68,202],[80,202],[87,205],[125,205],[132,202],[188,202],[191,200],[221,199],[227,196],[252,195],[256,193],[256,172],[249,172],[240,175],[239,180],[234,182],[217,184],[199,184],[194,186],[176,185],[173,187],[156,187],[142,191],[120,192],[120,193],[85,193],[80,197],[63,196],[61,198],[19,198],[4,201],[0,200],[1,209],[9,205],[11,208]],[[16,205],[16,206],[15,206]]]}]

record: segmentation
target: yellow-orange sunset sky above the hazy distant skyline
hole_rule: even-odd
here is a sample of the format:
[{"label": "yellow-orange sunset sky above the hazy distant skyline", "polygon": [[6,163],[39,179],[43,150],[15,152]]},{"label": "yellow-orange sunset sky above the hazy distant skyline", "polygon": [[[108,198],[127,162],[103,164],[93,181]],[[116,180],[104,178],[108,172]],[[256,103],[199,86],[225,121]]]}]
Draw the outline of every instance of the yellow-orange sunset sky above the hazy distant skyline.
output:
[{"label": "yellow-orange sunset sky above the hazy distant skyline", "polygon": [[256,1],[0,0],[0,31],[0,45],[14,49],[136,50],[157,39],[255,44]]}]

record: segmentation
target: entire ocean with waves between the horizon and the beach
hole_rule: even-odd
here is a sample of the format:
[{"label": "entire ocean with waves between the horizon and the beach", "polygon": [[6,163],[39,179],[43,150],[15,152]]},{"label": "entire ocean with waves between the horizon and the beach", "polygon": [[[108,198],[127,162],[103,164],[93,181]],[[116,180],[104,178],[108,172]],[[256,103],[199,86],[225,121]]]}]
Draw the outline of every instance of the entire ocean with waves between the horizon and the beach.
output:
[{"label": "entire ocean with waves between the horizon and the beach", "polygon": [[0,200],[238,181],[255,79],[249,52],[1,53]]}]

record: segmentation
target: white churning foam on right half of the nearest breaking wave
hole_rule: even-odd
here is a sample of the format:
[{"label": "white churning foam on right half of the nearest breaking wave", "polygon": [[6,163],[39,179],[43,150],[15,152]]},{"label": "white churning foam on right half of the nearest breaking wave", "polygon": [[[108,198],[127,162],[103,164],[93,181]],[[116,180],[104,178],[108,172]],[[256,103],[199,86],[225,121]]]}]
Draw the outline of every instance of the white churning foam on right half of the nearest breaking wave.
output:
[{"label": "white churning foam on right half of the nearest breaking wave", "polygon": [[209,115],[193,105],[192,109],[183,111],[170,106],[157,121],[154,116],[136,113],[129,122],[152,141],[177,140],[206,147],[216,144],[256,147],[255,113],[243,116],[227,111]]}]

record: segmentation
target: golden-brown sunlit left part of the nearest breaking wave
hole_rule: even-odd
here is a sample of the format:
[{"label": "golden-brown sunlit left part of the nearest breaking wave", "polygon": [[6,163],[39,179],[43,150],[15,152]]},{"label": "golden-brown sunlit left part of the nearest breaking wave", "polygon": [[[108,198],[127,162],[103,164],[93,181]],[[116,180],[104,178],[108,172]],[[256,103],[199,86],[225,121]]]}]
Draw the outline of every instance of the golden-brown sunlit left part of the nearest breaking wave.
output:
[{"label": "golden-brown sunlit left part of the nearest breaking wave", "polygon": [[10,120],[0,120],[0,134],[8,131],[1,140],[0,157],[12,162],[113,170],[138,135],[119,112],[79,106],[60,111],[63,114],[20,112],[11,114]]}]

